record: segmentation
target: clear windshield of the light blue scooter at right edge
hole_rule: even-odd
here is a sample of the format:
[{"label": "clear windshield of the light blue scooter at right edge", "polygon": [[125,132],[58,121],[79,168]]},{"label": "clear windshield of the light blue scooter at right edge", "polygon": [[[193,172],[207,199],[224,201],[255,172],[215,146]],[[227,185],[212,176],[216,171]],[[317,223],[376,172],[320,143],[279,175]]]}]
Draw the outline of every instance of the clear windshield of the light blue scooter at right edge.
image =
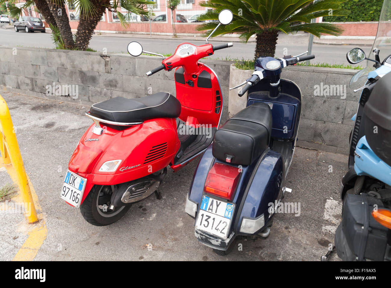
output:
[{"label": "clear windshield of the light blue scooter at right edge", "polygon": [[[376,39],[373,42],[371,51],[366,55],[367,58],[375,60],[373,49],[379,49],[380,62],[383,62],[391,54],[391,0],[384,0],[383,2]],[[366,67],[357,72],[350,80],[350,88],[357,89],[365,85],[365,82],[368,80],[368,73],[376,69],[373,67],[374,63],[366,60]]]}]

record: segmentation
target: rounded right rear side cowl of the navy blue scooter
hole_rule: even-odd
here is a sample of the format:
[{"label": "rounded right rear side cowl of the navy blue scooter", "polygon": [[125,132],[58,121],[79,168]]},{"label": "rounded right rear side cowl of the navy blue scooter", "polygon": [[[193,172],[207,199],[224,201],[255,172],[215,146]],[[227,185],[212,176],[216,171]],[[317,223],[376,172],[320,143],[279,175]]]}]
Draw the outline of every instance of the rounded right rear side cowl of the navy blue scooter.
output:
[{"label": "rounded right rear side cowl of the navy blue scooter", "polygon": [[269,203],[280,201],[283,188],[284,164],[281,154],[269,150],[256,168],[249,186],[244,192],[244,199],[240,199],[235,208],[234,231],[237,235],[251,235],[240,232],[243,217],[256,218],[264,214],[265,226],[271,221]]}]

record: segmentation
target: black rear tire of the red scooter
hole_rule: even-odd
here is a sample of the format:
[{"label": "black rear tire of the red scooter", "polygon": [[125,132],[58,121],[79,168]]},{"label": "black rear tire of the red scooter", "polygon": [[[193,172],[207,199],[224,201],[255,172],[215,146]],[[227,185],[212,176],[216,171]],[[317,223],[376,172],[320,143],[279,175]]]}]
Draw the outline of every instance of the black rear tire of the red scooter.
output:
[{"label": "black rear tire of the red scooter", "polygon": [[[126,205],[122,207],[116,207],[116,209],[112,212],[104,212],[99,208],[98,205],[98,197],[101,201],[104,201],[107,206],[110,205],[109,199],[111,197],[111,187],[110,186],[100,186],[95,185],[92,187],[90,193],[88,193],[86,199],[84,199],[83,203],[80,205],[80,212],[83,215],[84,219],[92,225],[95,226],[106,226],[113,224],[122,218],[129,210],[131,205]],[[105,192],[102,192],[105,191]],[[105,194],[106,193],[106,194]],[[103,200],[102,200],[103,199]],[[108,199],[108,202],[106,200]]]}]

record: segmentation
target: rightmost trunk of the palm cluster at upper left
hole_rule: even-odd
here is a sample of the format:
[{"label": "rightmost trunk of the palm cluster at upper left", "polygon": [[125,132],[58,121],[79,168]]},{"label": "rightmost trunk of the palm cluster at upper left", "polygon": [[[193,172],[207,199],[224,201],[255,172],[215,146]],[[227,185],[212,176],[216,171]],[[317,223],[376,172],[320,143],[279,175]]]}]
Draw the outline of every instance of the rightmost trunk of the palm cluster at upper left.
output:
[{"label": "rightmost trunk of the palm cluster at upper left", "polygon": [[[95,4],[95,1],[92,2]],[[100,18],[102,18],[103,13],[106,11],[106,6],[94,5],[96,8],[93,15],[86,15],[85,13],[80,13],[79,25],[77,26],[76,42],[75,45],[78,49],[85,51],[90,44],[92,33],[94,32],[95,27],[98,25]],[[109,4],[109,3],[108,3]]]}]

